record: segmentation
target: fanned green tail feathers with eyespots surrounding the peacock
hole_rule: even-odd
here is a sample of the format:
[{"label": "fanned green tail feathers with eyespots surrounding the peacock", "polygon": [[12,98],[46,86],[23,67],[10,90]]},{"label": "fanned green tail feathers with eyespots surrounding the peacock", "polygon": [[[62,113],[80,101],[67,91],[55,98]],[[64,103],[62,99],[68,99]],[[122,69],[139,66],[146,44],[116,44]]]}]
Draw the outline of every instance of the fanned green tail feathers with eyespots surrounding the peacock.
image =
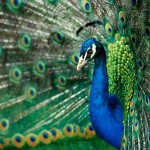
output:
[{"label": "fanned green tail feathers with eyespots surrounding the peacock", "polygon": [[135,42],[132,48],[138,64],[133,80],[138,84],[135,99],[140,106],[130,103],[130,112],[138,114],[141,126],[137,134],[128,119],[127,135],[138,136],[138,140],[127,137],[132,141],[128,148],[132,144],[137,150],[140,143],[141,149],[148,149],[148,0],[0,0],[0,149],[114,149],[95,135],[90,122],[94,62],[76,70],[84,40],[94,37],[107,46],[111,36],[105,33],[105,25],[87,27],[78,37],[76,31],[100,20],[113,25],[117,34],[120,9],[134,29],[134,33],[130,28],[124,32],[130,32],[129,40]]}]

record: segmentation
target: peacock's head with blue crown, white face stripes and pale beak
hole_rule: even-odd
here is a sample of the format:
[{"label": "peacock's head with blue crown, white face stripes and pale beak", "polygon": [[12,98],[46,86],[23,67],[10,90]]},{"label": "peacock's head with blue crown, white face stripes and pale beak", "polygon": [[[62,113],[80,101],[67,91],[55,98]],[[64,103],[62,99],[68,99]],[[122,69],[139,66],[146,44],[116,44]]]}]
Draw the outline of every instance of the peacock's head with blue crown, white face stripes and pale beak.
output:
[{"label": "peacock's head with blue crown, white face stripes and pale beak", "polygon": [[100,48],[101,44],[95,38],[84,41],[80,48],[77,70],[80,70],[88,61],[92,60],[99,53]]}]

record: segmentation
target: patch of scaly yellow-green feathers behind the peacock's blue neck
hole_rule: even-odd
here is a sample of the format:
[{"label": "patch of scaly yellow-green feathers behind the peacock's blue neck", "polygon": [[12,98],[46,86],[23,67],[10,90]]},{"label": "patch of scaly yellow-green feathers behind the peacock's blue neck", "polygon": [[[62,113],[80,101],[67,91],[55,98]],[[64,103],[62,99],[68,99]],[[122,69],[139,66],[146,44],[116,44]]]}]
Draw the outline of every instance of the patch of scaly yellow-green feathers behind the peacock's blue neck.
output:
[{"label": "patch of scaly yellow-green feathers behind the peacock's blue neck", "polygon": [[134,89],[134,53],[123,40],[108,44],[108,51],[107,75],[109,93],[117,95],[120,99],[124,110],[123,122],[125,123]]}]

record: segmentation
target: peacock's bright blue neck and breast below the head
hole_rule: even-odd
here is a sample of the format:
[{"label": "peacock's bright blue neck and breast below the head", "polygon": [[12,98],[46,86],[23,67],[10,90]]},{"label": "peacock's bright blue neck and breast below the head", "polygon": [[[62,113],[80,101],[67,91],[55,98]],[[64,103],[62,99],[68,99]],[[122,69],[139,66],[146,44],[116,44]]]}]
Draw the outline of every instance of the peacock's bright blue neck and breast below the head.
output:
[{"label": "peacock's bright blue neck and breast below the head", "polygon": [[90,118],[98,136],[120,148],[123,134],[123,112],[115,95],[108,94],[106,54],[102,47],[95,57],[90,94]]}]

